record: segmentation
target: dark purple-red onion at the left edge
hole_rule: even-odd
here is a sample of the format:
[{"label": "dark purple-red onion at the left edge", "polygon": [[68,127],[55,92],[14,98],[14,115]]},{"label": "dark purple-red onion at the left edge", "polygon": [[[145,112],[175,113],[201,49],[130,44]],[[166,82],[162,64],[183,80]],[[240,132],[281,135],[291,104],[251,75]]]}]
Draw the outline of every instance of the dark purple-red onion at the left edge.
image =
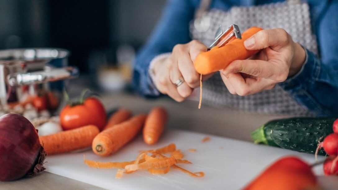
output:
[{"label": "dark purple-red onion at the left edge", "polygon": [[34,126],[18,114],[0,117],[0,181],[45,170],[45,151]]}]

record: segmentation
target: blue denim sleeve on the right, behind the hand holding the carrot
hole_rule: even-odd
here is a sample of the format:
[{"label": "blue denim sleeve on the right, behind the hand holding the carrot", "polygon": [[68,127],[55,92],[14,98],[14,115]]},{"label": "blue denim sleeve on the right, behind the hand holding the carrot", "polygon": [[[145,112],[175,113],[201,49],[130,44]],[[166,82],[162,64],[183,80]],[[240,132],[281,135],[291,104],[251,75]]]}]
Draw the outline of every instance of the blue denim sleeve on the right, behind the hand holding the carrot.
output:
[{"label": "blue denim sleeve on the right, behind the hand holding the carrot", "polygon": [[301,70],[279,85],[317,116],[338,116],[337,60],[324,64],[309,50],[306,54]]}]

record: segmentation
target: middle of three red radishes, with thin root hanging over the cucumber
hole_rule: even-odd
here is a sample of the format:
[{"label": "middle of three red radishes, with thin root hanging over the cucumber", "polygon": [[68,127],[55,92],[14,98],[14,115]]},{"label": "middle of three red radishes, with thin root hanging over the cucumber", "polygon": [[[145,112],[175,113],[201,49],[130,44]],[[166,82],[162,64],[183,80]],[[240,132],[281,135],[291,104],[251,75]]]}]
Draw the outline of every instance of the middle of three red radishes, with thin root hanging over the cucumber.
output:
[{"label": "middle of three red radishes, with thin root hanging over the cucumber", "polygon": [[316,149],[315,157],[317,160],[317,154],[320,148],[323,147],[325,152],[328,155],[337,155],[338,150],[338,133],[332,133],[325,137],[323,142],[318,143],[318,147]]}]

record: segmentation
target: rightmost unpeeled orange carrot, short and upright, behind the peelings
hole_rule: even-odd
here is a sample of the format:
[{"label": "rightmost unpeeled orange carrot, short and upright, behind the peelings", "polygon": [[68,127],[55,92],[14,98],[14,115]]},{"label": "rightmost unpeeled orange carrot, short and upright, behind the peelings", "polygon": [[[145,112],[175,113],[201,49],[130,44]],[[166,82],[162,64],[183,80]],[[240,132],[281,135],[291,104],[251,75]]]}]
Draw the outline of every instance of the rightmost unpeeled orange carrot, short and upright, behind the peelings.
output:
[{"label": "rightmost unpeeled orange carrot, short and upright, behind the peelings", "polygon": [[143,128],[143,140],[145,143],[151,145],[159,140],[167,119],[168,113],[164,108],[157,107],[150,111]]}]

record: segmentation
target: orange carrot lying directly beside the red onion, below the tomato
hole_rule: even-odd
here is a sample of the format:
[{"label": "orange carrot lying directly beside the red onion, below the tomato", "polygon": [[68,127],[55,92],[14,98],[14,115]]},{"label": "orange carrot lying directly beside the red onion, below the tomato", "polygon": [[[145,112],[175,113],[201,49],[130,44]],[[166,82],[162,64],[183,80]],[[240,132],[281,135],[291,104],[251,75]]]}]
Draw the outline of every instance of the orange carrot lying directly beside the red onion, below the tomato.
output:
[{"label": "orange carrot lying directly beside the red onion, below the tomato", "polygon": [[39,138],[47,154],[52,155],[90,147],[99,132],[97,126],[87,125]]}]

